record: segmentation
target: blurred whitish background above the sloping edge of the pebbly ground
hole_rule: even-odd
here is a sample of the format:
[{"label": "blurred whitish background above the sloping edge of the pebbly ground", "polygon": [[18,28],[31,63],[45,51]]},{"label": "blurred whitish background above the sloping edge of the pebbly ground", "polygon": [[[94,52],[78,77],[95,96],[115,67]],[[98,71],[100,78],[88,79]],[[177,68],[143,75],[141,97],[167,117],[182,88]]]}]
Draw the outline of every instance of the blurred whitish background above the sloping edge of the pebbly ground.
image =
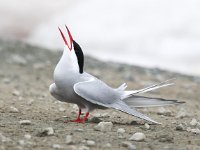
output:
[{"label": "blurred whitish background above the sloping edge of the pebbly ground", "polygon": [[62,50],[68,25],[103,61],[200,75],[199,0],[0,0],[0,38]]}]

